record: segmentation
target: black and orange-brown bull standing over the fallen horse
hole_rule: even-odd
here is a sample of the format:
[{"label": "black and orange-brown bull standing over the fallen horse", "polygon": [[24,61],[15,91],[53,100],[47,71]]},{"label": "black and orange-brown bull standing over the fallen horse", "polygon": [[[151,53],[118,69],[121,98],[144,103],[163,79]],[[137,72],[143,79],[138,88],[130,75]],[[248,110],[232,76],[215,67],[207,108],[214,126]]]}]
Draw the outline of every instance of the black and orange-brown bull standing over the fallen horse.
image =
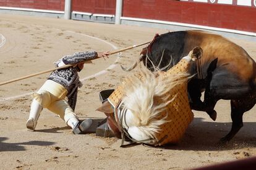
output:
[{"label": "black and orange-brown bull standing over the fallen horse", "polygon": [[[254,107],[256,102],[256,65],[242,47],[205,31],[176,31],[156,35],[151,44],[142,50],[140,60],[149,69],[155,65],[168,70],[195,46],[202,47],[203,56],[190,68],[190,74],[195,75],[188,83],[190,107],[206,111],[215,120],[216,102],[220,99],[231,100],[232,128],[221,139],[228,142],[243,126],[244,112]],[[166,68],[169,63],[171,65]],[[203,91],[202,102],[200,97]]]}]

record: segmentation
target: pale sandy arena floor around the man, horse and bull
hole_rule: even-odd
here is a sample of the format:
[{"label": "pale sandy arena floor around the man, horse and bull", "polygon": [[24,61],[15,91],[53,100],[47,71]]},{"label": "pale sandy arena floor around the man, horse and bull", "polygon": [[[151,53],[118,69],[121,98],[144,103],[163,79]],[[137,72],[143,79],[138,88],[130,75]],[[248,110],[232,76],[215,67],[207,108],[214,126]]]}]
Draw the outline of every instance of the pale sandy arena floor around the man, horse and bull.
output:
[{"label": "pale sandy arena floor around the man, horse and bull", "polygon": [[[0,14],[1,82],[54,68],[63,55],[82,51],[113,51],[153,39],[168,30],[109,25],[54,18]],[[4,38],[6,42],[4,42]],[[231,39],[256,59],[256,42]],[[87,63],[80,73],[75,112],[80,119],[105,118],[95,111],[98,92],[113,89],[142,47]],[[105,71],[104,71],[105,70]],[[244,127],[228,145],[218,141],[231,129],[229,101],[216,105],[218,117],[194,111],[181,142],[164,148],[136,145],[120,148],[121,140],[95,134],[75,136],[58,116],[43,110],[36,131],[25,127],[32,101],[49,73],[0,86],[0,169],[188,169],[237,160],[256,153],[256,107],[244,114]]]}]

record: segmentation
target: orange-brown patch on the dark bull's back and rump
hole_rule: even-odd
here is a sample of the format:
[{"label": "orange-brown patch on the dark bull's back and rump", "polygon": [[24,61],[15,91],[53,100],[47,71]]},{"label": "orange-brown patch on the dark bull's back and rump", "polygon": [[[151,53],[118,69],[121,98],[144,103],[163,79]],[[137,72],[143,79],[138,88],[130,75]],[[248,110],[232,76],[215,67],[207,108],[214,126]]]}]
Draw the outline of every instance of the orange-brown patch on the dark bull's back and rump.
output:
[{"label": "orange-brown patch on the dark bull's back and rump", "polygon": [[188,49],[195,45],[202,47],[201,65],[209,65],[210,62],[218,59],[216,69],[227,70],[244,81],[255,79],[255,61],[234,42],[203,31],[188,31],[186,41],[189,42]]}]

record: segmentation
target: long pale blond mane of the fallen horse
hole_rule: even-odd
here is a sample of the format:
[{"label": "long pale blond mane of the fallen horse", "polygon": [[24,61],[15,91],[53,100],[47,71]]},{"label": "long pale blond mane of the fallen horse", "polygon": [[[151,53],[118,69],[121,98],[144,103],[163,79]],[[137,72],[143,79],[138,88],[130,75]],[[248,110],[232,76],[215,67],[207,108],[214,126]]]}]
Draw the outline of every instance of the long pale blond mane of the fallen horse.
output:
[{"label": "long pale blond mane of the fallen horse", "polygon": [[[160,70],[151,72],[140,64],[137,71],[127,76],[129,84],[124,84],[124,106],[133,114],[132,124],[149,137],[154,137],[160,130],[160,125],[165,123],[165,118],[160,119],[166,106],[173,101],[169,99],[168,92],[178,84],[189,79],[188,73],[163,76]],[[160,105],[155,104],[155,99],[160,97],[163,101]],[[171,113],[167,113],[171,114]]]}]

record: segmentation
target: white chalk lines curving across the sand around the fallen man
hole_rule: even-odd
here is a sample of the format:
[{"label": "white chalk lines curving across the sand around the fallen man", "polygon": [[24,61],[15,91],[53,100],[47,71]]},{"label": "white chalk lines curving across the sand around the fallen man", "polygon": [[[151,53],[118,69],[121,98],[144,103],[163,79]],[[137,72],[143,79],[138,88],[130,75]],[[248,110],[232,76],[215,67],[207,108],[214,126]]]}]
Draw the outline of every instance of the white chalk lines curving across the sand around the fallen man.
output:
[{"label": "white chalk lines curving across the sand around the fallen man", "polygon": [[[104,42],[104,43],[108,44],[109,46],[113,47],[113,49],[118,49],[116,46],[114,46],[114,44],[111,44],[110,42],[105,41],[105,40],[103,40],[103,39],[96,38],[96,37],[94,37],[94,36],[89,36],[89,35],[87,35],[87,34],[82,34],[82,33],[75,33],[74,31],[66,31],[66,32],[74,33],[74,34],[80,34],[80,35],[86,36],[86,37],[88,37],[88,38],[96,39],[96,40],[98,40],[98,41],[101,41],[101,42]],[[0,34],[0,36],[1,36],[1,35],[2,35],[2,34]],[[2,37],[4,37],[4,36],[2,36]],[[5,43],[5,42],[6,42],[6,39],[4,38],[4,43]],[[1,43],[1,44],[2,44],[2,43]],[[0,47],[1,47],[1,44],[0,44]],[[2,45],[2,46],[3,46],[3,45]],[[106,68],[105,70],[101,70],[101,71],[98,72],[98,73],[95,73],[95,74],[93,74],[93,75],[90,75],[90,76],[87,76],[87,77],[85,77],[85,78],[82,78],[82,79],[80,79],[80,81],[85,81],[86,79],[94,78],[94,77],[96,77],[96,76],[100,76],[100,75],[103,75],[103,74],[107,73],[107,72],[108,72],[107,70],[111,70],[111,69],[113,69],[114,67],[116,67],[116,64],[115,64],[115,63],[116,63],[118,60],[119,60],[119,57],[117,57],[117,59],[116,59],[116,61],[114,62],[114,64],[109,65],[109,67]],[[24,96],[26,96],[26,95],[31,95],[31,94],[33,94],[33,92],[28,92],[28,93],[26,93],[26,94],[20,94],[20,95],[15,95],[15,96],[12,96],[12,97],[2,98],[2,99],[0,99],[0,102],[6,101],[6,100],[14,100],[14,99],[17,99],[17,98],[20,98],[20,97],[24,97]]]}]

